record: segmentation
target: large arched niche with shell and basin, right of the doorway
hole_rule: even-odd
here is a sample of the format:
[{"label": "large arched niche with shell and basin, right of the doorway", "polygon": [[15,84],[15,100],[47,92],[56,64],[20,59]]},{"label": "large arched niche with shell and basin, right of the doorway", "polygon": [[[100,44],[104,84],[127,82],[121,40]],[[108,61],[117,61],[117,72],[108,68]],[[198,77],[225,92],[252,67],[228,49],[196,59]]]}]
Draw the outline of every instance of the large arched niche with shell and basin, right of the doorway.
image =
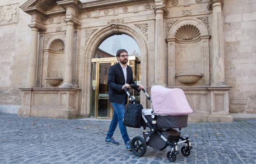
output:
[{"label": "large arched niche with shell and basin, right of the doorway", "polygon": [[167,38],[168,86],[210,85],[209,38],[207,27],[197,19],[172,25]]}]

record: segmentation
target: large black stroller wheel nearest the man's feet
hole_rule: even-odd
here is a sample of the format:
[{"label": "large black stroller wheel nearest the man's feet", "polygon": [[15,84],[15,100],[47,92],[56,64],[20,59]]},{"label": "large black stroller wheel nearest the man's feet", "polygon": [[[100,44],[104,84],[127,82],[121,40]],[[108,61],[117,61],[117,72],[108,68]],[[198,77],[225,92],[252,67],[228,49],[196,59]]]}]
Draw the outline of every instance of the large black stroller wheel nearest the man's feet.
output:
[{"label": "large black stroller wheel nearest the man's feet", "polygon": [[141,157],[146,153],[146,142],[142,137],[134,137],[131,142],[131,147],[133,154],[135,154],[138,157]]}]

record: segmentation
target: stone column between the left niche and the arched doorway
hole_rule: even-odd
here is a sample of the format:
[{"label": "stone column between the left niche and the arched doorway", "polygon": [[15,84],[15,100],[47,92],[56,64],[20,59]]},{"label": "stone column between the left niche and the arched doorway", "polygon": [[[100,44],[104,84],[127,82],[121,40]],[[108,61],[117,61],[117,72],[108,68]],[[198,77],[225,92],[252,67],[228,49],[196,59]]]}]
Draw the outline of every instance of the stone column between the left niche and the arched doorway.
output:
[{"label": "stone column between the left niche and the arched doorway", "polygon": [[73,20],[66,20],[66,44],[64,59],[64,77],[61,88],[74,88],[72,85]]}]

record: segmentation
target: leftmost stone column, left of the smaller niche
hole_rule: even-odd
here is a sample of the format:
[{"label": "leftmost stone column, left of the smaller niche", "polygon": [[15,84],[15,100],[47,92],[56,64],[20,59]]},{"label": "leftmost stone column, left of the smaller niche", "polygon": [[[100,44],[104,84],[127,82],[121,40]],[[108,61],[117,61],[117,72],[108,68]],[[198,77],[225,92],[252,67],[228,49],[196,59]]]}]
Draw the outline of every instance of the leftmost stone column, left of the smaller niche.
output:
[{"label": "leftmost stone column, left of the smaller niche", "polygon": [[36,72],[37,72],[37,46],[38,46],[38,27],[30,26],[32,29],[32,37],[30,43],[30,58],[28,62],[26,87],[32,88],[36,86]]}]

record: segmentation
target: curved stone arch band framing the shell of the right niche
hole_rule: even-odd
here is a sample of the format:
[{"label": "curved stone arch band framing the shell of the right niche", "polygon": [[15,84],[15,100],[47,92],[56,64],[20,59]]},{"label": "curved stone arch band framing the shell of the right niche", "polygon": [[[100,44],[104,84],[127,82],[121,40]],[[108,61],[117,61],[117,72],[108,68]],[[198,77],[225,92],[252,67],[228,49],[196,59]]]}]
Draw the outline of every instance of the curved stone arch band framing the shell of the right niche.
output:
[{"label": "curved stone arch band framing the shell of the right niche", "polygon": [[203,22],[201,22],[200,20],[194,19],[194,18],[185,18],[182,20],[178,20],[177,22],[174,23],[174,25],[170,28],[169,32],[168,32],[168,38],[175,38],[175,33],[178,30],[178,28],[180,28],[183,25],[186,24],[190,24],[193,25],[195,27],[197,27],[201,33],[201,35],[208,35],[208,29],[206,27],[205,24],[203,24]]}]

